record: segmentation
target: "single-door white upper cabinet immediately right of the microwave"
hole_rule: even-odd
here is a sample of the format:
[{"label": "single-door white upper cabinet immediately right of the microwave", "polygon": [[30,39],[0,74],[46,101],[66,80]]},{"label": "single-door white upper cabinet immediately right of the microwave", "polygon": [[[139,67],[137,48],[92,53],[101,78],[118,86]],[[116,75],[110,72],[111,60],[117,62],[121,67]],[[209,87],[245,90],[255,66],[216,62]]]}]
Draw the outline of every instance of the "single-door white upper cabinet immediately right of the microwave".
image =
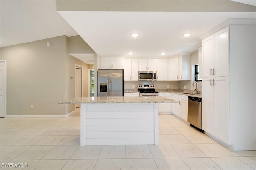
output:
[{"label": "single-door white upper cabinet immediately right of the microwave", "polygon": [[156,79],[168,80],[167,78],[167,59],[156,59]]}]

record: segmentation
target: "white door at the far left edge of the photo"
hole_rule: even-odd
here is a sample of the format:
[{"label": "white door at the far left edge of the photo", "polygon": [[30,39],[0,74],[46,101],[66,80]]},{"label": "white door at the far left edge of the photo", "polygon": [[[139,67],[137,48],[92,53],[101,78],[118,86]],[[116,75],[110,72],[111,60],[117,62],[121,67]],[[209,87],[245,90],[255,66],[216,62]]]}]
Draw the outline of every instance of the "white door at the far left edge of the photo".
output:
[{"label": "white door at the far left edge of the photo", "polygon": [[6,61],[0,61],[0,117],[6,116]]}]

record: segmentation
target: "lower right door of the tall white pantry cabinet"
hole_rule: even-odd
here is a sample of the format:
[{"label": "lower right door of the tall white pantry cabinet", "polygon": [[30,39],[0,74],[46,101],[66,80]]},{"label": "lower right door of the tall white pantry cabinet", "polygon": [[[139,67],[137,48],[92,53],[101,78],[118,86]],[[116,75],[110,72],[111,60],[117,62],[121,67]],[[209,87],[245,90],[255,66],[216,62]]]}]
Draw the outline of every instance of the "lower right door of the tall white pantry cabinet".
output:
[{"label": "lower right door of the tall white pantry cabinet", "polygon": [[215,77],[214,114],[216,115],[216,136],[229,144],[229,76]]}]

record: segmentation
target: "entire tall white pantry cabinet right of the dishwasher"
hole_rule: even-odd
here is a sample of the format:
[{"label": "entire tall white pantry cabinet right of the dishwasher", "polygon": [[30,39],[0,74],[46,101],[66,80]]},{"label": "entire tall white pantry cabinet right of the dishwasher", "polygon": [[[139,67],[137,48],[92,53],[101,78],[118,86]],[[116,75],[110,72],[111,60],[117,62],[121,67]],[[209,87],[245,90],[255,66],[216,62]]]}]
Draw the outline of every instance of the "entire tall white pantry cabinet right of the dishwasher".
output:
[{"label": "entire tall white pantry cabinet right of the dishwasher", "polygon": [[232,150],[256,150],[256,26],[202,40],[202,129]]}]

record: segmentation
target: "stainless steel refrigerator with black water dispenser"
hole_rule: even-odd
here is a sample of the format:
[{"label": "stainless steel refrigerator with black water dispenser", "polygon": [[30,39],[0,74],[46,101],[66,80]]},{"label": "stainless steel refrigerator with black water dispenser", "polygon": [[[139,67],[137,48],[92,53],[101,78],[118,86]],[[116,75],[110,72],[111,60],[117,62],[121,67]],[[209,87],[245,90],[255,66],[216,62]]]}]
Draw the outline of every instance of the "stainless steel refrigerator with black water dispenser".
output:
[{"label": "stainless steel refrigerator with black water dispenser", "polygon": [[98,96],[124,96],[123,75],[123,69],[98,69]]}]

